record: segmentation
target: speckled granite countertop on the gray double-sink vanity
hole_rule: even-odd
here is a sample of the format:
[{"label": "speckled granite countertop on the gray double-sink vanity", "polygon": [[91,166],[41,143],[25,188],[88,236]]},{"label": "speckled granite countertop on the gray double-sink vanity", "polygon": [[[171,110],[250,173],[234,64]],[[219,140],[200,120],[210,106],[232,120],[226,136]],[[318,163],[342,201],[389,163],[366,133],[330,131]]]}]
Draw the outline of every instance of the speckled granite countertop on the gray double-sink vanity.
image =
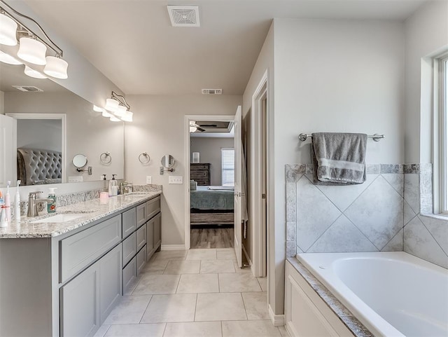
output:
[{"label": "speckled granite countertop on the gray double-sink vanity", "polygon": [[[77,202],[64,207],[57,207],[56,213],[42,214],[41,216],[27,217],[22,216],[20,221],[14,219],[8,224],[8,227],[0,228],[0,239],[15,238],[51,238],[62,235],[76,228],[85,226],[92,221],[102,219],[115,212],[127,207],[138,205],[140,202],[160,195],[161,191],[149,191],[139,193],[129,193],[118,195],[108,199],[99,198]],[[34,221],[50,218],[55,214],[78,214],[80,217],[70,221],[50,223],[35,223]]]}]

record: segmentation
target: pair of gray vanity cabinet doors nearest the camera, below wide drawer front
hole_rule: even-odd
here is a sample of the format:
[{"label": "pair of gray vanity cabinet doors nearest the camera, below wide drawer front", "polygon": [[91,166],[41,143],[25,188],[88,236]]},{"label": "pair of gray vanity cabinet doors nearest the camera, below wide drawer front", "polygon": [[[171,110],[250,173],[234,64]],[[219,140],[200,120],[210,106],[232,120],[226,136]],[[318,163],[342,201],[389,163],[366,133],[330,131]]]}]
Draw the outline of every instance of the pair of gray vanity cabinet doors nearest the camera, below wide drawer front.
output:
[{"label": "pair of gray vanity cabinet doors nearest the camera, below wide drawer front", "polygon": [[121,246],[64,284],[60,336],[92,336],[121,296]]}]

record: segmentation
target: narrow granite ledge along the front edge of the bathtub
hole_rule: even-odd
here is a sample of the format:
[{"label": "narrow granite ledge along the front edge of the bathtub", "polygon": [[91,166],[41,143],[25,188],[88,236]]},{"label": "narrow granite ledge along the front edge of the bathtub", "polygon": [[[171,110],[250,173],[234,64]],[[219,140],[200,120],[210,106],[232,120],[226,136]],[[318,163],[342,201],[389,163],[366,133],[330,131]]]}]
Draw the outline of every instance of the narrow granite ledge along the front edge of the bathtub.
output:
[{"label": "narrow granite ledge along the front edge of the bathtub", "polygon": [[319,297],[335,312],[337,317],[356,337],[373,337],[367,328],[328,290],[314,275],[295,257],[288,257],[288,262],[302,275],[309,286],[316,291]]}]

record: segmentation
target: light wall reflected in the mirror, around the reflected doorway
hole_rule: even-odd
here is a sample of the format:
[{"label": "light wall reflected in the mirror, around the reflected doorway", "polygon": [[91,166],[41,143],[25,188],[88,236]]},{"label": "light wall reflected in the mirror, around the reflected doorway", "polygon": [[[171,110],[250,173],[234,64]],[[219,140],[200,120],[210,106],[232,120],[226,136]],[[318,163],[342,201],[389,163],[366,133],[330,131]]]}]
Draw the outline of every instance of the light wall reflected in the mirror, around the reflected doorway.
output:
[{"label": "light wall reflected in the mirror, around the reflected doorway", "polygon": [[[5,112],[66,114],[66,174],[82,176],[83,181],[101,179],[101,174],[124,177],[124,135],[123,123],[113,123],[100,113],[92,110],[92,104],[72,92],[31,93],[6,92]],[[100,162],[99,156],[109,151],[110,165]],[[76,172],[71,160],[82,153],[87,156],[87,166],[92,166],[93,174]],[[65,175],[65,174],[64,174]]]}]

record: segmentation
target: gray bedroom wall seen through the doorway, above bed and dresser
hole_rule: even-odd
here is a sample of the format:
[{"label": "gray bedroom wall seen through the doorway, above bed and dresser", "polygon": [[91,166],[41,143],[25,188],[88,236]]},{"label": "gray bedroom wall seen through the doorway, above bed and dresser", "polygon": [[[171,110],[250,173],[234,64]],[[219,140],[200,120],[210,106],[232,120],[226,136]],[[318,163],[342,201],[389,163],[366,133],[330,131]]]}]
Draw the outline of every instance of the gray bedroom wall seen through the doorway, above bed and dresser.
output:
[{"label": "gray bedroom wall seen through the doorway, above bed and dresser", "polygon": [[[199,152],[201,163],[210,163],[210,184],[221,186],[221,149],[233,148],[233,138],[190,137],[190,153]],[[190,157],[191,160],[191,157]]]}]

